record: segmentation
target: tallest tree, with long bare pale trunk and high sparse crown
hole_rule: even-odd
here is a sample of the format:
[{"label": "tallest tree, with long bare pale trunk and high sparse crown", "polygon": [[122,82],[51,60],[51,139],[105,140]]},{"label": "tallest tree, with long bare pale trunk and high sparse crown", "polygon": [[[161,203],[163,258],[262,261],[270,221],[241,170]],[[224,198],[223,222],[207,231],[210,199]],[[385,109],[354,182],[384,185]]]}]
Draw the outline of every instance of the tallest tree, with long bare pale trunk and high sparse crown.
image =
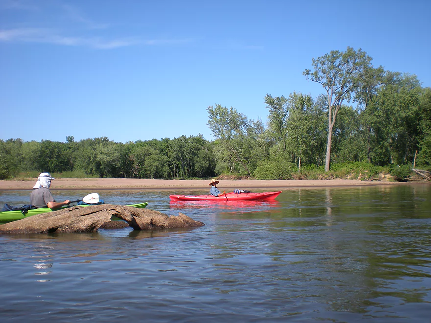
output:
[{"label": "tallest tree, with long bare pale trunk and high sparse crown", "polygon": [[326,145],[325,171],[329,171],[331,140],[335,119],[344,101],[350,102],[357,90],[361,74],[370,67],[372,58],[361,49],[347,47],[345,52],[333,50],[329,54],[313,58],[313,71],[306,69],[307,79],[319,83],[328,99],[328,139]]}]

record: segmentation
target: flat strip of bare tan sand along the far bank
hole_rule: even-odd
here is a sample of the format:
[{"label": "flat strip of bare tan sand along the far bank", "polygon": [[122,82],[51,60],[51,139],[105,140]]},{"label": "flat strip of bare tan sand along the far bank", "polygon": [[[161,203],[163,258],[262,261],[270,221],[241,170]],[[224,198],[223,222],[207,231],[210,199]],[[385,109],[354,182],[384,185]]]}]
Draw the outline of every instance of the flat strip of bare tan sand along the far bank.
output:
[{"label": "flat strip of bare tan sand along the far bank", "polygon": [[[27,190],[31,189],[36,178],[28,181],[0,181],[0,190]],[[130,178],[57,178],[52,181],[51,189],[209,189],[206,180],[149,180]],[[228,189],[262,189],[275,188],[279,190],[295,187],[342,187],[342,186],[375,186],[375,185],[405,185],[398,182],[364,182],[358,180],[221,180],[218,188]]]}]

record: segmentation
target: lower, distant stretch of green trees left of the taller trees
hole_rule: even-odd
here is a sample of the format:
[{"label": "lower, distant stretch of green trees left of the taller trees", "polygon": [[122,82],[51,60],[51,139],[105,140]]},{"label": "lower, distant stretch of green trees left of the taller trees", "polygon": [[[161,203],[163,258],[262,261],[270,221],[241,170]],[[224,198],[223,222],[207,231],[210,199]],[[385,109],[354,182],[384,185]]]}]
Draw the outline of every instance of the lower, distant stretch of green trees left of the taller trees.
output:
[{"label": "lower, distant stretch of green trees left of the taller trees", "polygon": [[0,140],[0,177],[47,171],[64,177],[208,178],[215,175],[211,143],[201,135],[116,143],[106,137],[75,142]]}]

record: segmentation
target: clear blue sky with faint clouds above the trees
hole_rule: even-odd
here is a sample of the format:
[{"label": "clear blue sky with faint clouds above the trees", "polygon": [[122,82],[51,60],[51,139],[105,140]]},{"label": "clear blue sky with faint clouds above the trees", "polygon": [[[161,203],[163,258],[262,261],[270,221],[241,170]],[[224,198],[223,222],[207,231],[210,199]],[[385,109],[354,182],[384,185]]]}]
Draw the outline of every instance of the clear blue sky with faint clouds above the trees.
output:
[{"label": "clear blue sky with faint clouds above the trees", "polygon": [[361,48],[431,86],[431,1],[0,0],[0,139],[199,133],[206,108],[266,122],[266,93],[321,94],[312,58]]}]

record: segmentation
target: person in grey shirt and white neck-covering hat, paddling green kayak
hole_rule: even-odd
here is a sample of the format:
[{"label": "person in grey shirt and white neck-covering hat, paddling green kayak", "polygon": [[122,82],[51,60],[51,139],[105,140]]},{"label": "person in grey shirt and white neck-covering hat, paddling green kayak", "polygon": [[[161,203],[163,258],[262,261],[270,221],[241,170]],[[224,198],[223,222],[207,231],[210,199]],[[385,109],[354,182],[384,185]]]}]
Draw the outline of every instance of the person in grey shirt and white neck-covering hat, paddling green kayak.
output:
[{"label": "person in grey shirt and white neck-covering hat, paddling green kayak", "polygon": [[69,200],[63,202],[55,202],[49,188],[51,181],[55,180],[49,173],[41,173],[37,178],[36,184],[33,186],[33,191],[30,194],[30,204],[36,208],[60,208],[71,203]]}]

